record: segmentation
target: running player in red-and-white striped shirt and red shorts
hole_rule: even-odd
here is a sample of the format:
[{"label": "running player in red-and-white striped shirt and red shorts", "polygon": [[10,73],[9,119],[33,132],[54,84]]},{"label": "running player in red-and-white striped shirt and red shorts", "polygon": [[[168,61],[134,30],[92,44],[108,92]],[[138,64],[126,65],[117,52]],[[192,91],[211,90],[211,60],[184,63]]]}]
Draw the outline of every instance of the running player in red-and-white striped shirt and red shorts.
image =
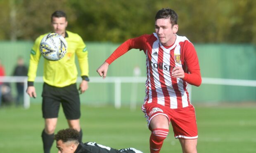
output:
[{"label": "running player in red-and-white striped shirt and red shorts", "polygon": [[155,33],[128,39],[97,69],[103,79],[109,65],[130,49],[146,55],[146,97],[142,111],[151,136],[150,152],[159,153],[173,126],[183,153],[197,152],[197,123],[190,103],[187,84],[200,86],[201,74],[193,44],[178,32],[178,15],[172,9],[161,9],[155,17]]}]

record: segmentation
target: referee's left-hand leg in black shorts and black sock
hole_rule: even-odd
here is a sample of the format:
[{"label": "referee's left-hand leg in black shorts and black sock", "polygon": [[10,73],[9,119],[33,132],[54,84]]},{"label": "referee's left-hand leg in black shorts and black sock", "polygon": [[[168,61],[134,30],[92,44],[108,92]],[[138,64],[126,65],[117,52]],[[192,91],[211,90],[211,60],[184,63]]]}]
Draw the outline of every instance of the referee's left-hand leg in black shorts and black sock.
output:
[{"label": "referee's left-hand leg in black shorts and black sock", "polygon": [[42,132],[44,153],[50,153],[52,144],[54,142],[54,132],[57,125],[57,117],[59,113],[60,102],[55,94],[54,88],[44,83],[43,86],[43,103],[42,111],[43,118],[45,118],[45,127]]}]

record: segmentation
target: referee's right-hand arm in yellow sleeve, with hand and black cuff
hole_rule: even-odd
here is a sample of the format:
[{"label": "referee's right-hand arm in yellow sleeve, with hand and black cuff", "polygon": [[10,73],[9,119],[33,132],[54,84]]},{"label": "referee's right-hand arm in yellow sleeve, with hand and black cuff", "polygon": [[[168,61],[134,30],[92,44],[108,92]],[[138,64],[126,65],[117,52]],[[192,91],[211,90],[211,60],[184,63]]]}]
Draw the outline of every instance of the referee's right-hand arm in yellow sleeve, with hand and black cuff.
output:
[{"label": "referee's right-hand arm in yellow sleeve, with hand and black cuff", "polygon": [[79,85],[80,93],[84,93],[88,89],[89,82],[89,65],[88,65],[88,50],[83,39],[78,37],[78,48],[76,49],[78,63],[81,71],[82,82]]}]

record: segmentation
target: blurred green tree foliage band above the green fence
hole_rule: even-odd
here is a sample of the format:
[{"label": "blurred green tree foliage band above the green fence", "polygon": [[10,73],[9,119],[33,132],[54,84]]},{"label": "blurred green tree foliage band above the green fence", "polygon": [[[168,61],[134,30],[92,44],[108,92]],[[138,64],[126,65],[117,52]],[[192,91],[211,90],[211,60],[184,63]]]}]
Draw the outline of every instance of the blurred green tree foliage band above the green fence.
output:
[{"label": "blurred green tree foliage band above the green fence", "polygon": [[161,8],[178,15],[178,35],[194,43],[256,44],[255,0],[0,0],[0,39],[33,40],[64,10],[85,41],[123,42],[154,32]]}]

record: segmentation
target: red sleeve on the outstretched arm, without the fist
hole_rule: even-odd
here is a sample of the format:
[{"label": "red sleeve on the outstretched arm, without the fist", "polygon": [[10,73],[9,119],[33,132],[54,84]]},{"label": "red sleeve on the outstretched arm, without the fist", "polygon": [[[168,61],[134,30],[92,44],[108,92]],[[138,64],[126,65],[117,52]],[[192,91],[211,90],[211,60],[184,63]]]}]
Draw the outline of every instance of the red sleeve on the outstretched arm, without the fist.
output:
[{"label": "red sleeve on the outstretched arm, without the fist", "polygon": [[114,62],[117,58],[128,52],[130,49],[140,49],[143,50],[143,42],[145,40],[145,35],[142,35],[137,38],[128,39],[126,42],[121,44],[110,56],[107,58],[105,62],[109,63],[109,65]]}]

